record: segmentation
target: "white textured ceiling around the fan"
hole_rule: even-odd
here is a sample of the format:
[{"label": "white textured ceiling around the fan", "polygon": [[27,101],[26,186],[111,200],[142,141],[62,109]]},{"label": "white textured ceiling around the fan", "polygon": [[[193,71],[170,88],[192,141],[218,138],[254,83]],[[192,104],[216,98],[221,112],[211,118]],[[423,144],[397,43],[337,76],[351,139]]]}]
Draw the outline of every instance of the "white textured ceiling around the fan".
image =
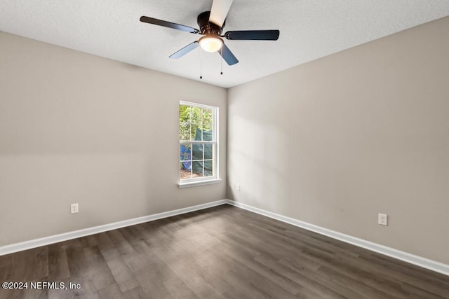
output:
[{"label": "white textured ceiling around the fan", "polygon": [[[139,21],[141,15],[198,28],[212,0],[1,0],[0,31],[168,74],[199,79],[200,50],[168,56],[199,39]],[[203,82],[225,88],[449,15],[449,0],[234,0],[224,32],[279,29],[278,41],[227,41],[229,67],[203,52]],[[1,45],[0,45],[1,51]]]}]

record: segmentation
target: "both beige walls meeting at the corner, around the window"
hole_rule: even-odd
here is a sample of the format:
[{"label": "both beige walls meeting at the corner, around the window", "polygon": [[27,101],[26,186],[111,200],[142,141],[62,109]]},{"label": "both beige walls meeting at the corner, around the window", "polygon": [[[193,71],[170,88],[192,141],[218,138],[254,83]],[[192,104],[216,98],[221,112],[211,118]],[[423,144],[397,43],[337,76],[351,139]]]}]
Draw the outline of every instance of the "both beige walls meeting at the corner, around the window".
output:
[{"label": "both beige walls meeting at the corner, around the window", "polygon": [[[449,263],[448,33],[444,18],[227,96],[0,32],[0,246],[230,197]],[[179,100],[220,107],[227,193],[177,188]]]}]

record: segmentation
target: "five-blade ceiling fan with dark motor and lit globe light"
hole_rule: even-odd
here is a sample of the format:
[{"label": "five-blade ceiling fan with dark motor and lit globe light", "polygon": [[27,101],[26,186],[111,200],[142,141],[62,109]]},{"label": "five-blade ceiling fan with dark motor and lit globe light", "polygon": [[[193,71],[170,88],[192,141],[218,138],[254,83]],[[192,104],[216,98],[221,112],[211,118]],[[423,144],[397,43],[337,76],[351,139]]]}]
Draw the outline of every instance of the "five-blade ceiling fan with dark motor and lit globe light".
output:
[{"label": "five-blade ceiling fan with dark motor and lit globe light", "polygon": [[177,50],[170,55],[170,58],[180,58],[198,48],[198,46],[201,46],[203,50],[208,52],[218,52],[227,64],[233,65],[239,62],[239,60],[227,48],[223,42],[223,37],[225,39],[239,41],[276,41],[279,38],[279,30],[239,30],[229,31],[221,35],[231,4],[232,0],[213,0],[210,11],[205,11],[198,15],[197,22],[199,29],[145,16],[140,17],[140,22],[203,35],[198,41],[189,43],[189,45],[181,50]]}]

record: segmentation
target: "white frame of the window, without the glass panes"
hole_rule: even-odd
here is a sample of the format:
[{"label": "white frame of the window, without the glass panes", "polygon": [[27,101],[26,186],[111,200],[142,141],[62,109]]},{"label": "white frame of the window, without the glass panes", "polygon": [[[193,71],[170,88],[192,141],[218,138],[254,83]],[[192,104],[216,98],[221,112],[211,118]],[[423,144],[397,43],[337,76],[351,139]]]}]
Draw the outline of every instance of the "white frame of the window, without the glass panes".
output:
[{"label": "white frame of the window, without the glass panes", "polygon": [[[195,141],[195,140],[180,140],[180,144],[178,145],[178,160],[179,162],[182,162],[180,159],[180,145],[181,144],[213,144],[213,153],[212,153],[212,167],[213,167],[213,176],[206,176],[206,177],[198,177],[198,178],[190,178],[190,179],[180,179],[181,173],[179,173],[178,179],[178,187],[179,188],[186,188],[186,187],[192,187],[192,186],[201,186],[201,185],[208,185],[210,183],[220,183],[222,181],[219,177],[219,143],[218,143],[218,112],[219,108],[217,106],[209,106],[205,104],[198,104],[193,102],[185,102],[180,101],[180,106],[186,105],[186,106],[194,106],[199,107],[203,109],[211,109],[213,111],[213,140],[212,141]],[[179,119],[178,119],[179,121]],[[179,124],[178,124],[179,125]],[[179,133],[179,131],[178,131]],[[179,134],[178,134],[179,137]],[[179,138],[178,138],[179,139]],[[193,154],[193,153],[192,153]],[[178,167],[179,167],[178,163]],[[181,170],[180,170],[181,171]]]}]

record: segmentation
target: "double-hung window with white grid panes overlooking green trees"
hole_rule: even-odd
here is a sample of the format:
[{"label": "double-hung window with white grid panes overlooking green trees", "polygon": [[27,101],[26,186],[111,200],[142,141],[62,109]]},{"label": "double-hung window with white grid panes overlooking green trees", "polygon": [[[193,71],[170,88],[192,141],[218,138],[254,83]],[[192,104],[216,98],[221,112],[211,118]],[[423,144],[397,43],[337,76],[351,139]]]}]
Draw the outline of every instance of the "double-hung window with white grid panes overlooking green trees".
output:
[{"label": "double-hung window with white grid panes overlooking green trees", "polygon": [[217,182],[218,108],[180,102],[180,187]]}]

